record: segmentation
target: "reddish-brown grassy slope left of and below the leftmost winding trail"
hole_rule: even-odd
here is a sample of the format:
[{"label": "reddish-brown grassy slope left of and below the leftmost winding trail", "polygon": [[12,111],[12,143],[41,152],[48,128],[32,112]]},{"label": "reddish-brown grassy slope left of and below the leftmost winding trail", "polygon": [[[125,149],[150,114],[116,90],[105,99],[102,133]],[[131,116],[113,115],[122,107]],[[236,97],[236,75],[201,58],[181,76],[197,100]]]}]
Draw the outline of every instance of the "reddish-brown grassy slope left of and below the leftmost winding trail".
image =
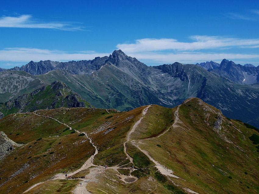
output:
[{"label": "reddish-brown grassy slope left of and below the leftmost winding trail", "polygon": [[0,128],[10,139],[24,143],[0,161],[4,193],[22,193],[56,173],[78,169],[94,153],[86,137],[70,134],[50,118],[14,114],[2,119]]}]

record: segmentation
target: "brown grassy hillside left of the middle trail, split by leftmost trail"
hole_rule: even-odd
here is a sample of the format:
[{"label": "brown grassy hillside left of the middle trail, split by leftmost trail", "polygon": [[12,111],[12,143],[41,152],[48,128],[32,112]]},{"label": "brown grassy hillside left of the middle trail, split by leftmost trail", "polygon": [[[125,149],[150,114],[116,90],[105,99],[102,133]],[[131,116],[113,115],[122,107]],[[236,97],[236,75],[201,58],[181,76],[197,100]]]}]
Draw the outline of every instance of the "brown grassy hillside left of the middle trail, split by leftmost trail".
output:
[{"label": "brown grassy hillside left of the middle trail, split by leftmost trail", "polygon": [[[113,113],[109,114],[105,109],[60,108],[39,110],[37,114],[56,118],[73,129],[87,131],[98,146],[99,154],[95,163],[105,165],[108,160],[108,165],[111,166],[125,161],[122,143],[142,109],[140,107],[123,113],[108,110]],[[105,127],[99,127],[102,124]],[[4,132],[10,139],[25,144],[1,161],[4,170],[0,185],[3,184],[1,189],[4,191],[10,188],[9,193],[23,192],[56,173],[78,169],[94,153],[86,137],[70,134],[71,131],[65,125],[51,118],[34,114],[12,114],[1,120],[0,127],[5,129]],[[50,154],[51,152],[54,153]],[[20,172],[23,167],[24,170]],[[11,178],[18,170],[20,173]]]}]

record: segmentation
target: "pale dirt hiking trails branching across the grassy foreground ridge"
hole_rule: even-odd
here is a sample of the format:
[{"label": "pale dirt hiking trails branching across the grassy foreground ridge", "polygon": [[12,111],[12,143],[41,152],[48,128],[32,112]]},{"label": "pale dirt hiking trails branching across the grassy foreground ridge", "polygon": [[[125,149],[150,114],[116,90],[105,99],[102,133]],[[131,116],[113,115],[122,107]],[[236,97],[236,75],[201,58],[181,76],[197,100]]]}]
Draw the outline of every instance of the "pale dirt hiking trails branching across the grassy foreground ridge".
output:
[{"label": "pale dirt hiking trails branching across the grassy foreground ridge", "polygon": [[[183,102],[183,104],[185,104],[186,102],[189,102],[189,101],[190,101],[190,99],[188,99],[188,100],[186,100],[185,102]],[[175,121],[174,121],[174,123],[172,124],[172,126],[170,126],[167,130],[165,130],[165,131],[164,131],[163,133],[161,133],[160,135],[158,135],[158,136],[156,136],[156,137],[152,137],[152,138],[147,138],[147,139],[144,139],[144,140],[151,140],[151,139],[154,139],[154,138],[161,137],[162,135],[164,135],[165,133],[167,133],[172,127],[177,127],[177,123],[179,122],[179,108],[180,108],[180,106],[181,106],[181,105],[179,105],[179,106],[177,107],[177,109],[176,109],[176,111],[175,111],[175,113],[174,113],[174,115],[175,115]],[[140,144],[140,143],[143,144],[143,142],[141,142],[142,140],[131,140],[131,139],[130,139],[131,134],[132,134],[132,133],[136,130],[136,128],[139,126],[141,120],[144,118],[145,114],[147,113],[148,108],[150,108],[150,107],[151,107],[151,105],[148,105],[145,109],[143,109],[142,115],[141,115],[140,119],[132,126],[131,130],[127,133],[127,135],[126,135],[126,141],[123,143],[123,151],[124,151],[124,153],[126,154],[127,158],[130,159],[130,163],[133,164],[133,158],[130,157],[130,155],[127,153],[127,148],[126,148],[126,143],[130,141],[130,143],[131,143],[133,146],[137,147],[137,148],[138,148],[142,153],[144,153],[151,161],[154,162],[154,164],[155,164],[154,167],[156,167],[156,168],[158,169],[158,171],[161,172],[161,174],[163,174],[163,175],[165,175],[165,176],[170,176],[170,177],[173,177],[173,178],[180,178],[180,177],[174,175],[174,174],[173,174],[173,171],[172,171],[171,169],[168,169],[168,168],[166,168],[165,166],[161,165],[158,161],[155,161],[155,160],[150,156],[150,154],[148,153],[148,151],[142,150],[142,149],[139,147],[139,144]],[[107,109],[106,109],[106,111],[108,112]],[[108,112],[108,113],[109,113],[109,112]],[[23,114],[23,113],[20,113],[20,114]],[[32,114],[32,113],[30,113],[30,114]],[[33,113],[33,114],[37,115],[36,113]],[[47,118],[53,119],[53,120],[59,122],[60,124],[63,124],[63,125],[65,125],[65,126],[69,127],[69,130],[72,130],[72,128],[71,128],[70,126],[68,126],[68,125],[65,124],[65,123],[60,122],[59,120],[57,120],[57,119],[55,119],[55,118],[52,118],[52,117],[49,117],[49,116],[43,116],[43,115],[37,115],[37,116],[42,116],[42,117],[47,117]],[[89,141],[90,141],[90,143],[92,144],[92,146],[95,148],[95,153],[92,155],[92,157],[90,157],[90,158],[87,159],[87,161],[82,165],[81,168],[79,168],[78,170],[76,170],[76,171],[74,171],[74,172],[72,172],[72,173],[69,173],[69,175],[74,175],[74,174],[76,174],[76,173],[78,173],[78,172],[80,172],[80,171],[82,171],[82,170],[85,170],[85,169],[91,167],[91,166],[98,167],[98,168],[90,168],[90,173],[89,173],[88,175],[86,175],[85,178],[80,178],[80,180],[82,180],[82,182],[83,182],[83,183],[82,183],[82,186],[80,186],[80,184],[77,185],[76,188],[73,190],[73,194],[84,194],[84,193],[90,194],[90,192],[87,191],[87,189],[86,189],[87,183],[88,183],[88,182],[92,182],[92,181],[98,182],[98,180],[97,180],[95,177],[96,177],[96,175],[98,175],[98,173],[102,173],[101,169],[103,169],[104,167],[102,167],[102,166],[97,166],[97,165],[94,165],[94,164],[92,163],[93,160],[94,160],[94,156],[95,156],[96,154],[98,154],[98,149],[97,149],[97,147],[94,145],[94,143],[92,143],[92,139],[87,136],[87,133],[86,133],[86,132],[80,132],[80,131],[78,131],[78,130],[75,130],[75,131],[76,131],[77,133],[84,133],[84,134],[85,134],[85,136],[89,139]],[[130,164],[130,163],[129,163],[129,164]],[[122,165],[122,166],[123,166],[123,165]],[[111,169],[117,171],[118,173],[119,173],[118,169],[130,169],[131,171],[135,170],[135,169],[132,168],[132,167],[130,167],[130,168],[128,168],[128,167],[127,167],[127,168],[123,168],[122,166],[118,167],[118,165],[116,165],[116,166],[109,167],[109,168],[111,168]],[[124,181],[125,183],[126,183],[125,178],[135,178],[135,181],[137,181],[137,177],[134,177],[134,176],[132,176],[132,175],[126,176],[126,175],[122,175],[122,174],[119,173],[119,176],[122,178],[121,180]],[[64,174],[59,173],[59,174],[56,174],[56,175],[55,175],[54,177],[52,177],[51,179],[52,179],[52,180],[56,180],[56,179],[65,179],[65,178],[66,178],[66,177],[65,177]],[[180,178],[180,179],[182,179],[182,178]],[[183,179],[183,180],[184,180],[184,179]],[[135,182],[135,181],[134,181],[134,182]],[[41,183],[43,183],[43,182],[40,182],[40,183],[37,183],[37,184],[31,186],[29,189],[27,189],[27,191],[29,191],[30,189],[34,188],[35,186],[37,186],[37,185],[39,185],[39,184],[41,184]],[[129,182],[127,182],[127,183],[129,183]],[[100,182],[100,184],[103,184],[103,183]],[[105,185],[105,186],[106,186],[106,185]],[[156,188],[157,188],[157,186],[156,186]],[[155,189],[156,189],[156,188],[155,188]],[[110,188],[110,189],[111,189],[111,188]],[[155,189],[154,189],[154,190],[155,190]],[[193,192],[193,191],[190,190],[189,188],[184,188],[184,189],[185,189],[187,192],[191,192],[191,193],[197,194],[196,192]],[[154,192],[154,190],[151,191],[150,193]],[[27,191],[25,191],[25,192],[27,192]],[[25,193],[25,192],[23,192],[23,193]],[[114,191],[114,192],[115,192],[115,191]]]}]

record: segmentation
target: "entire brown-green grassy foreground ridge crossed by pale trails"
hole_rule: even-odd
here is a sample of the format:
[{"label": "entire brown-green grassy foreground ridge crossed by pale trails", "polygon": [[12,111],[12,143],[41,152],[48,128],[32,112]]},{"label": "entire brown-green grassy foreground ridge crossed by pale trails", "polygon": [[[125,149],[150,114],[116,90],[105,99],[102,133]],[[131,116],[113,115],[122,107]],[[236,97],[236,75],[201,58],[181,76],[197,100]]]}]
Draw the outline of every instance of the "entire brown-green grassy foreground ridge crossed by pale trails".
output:
[{"label": "entire brown-green grassy foreground ridge crossed by pale trails", "polygon": [[[55,173],[73,171],[93,153],[85,136],[70,134],[66,126],[51,118],[87,132],[98,149],[94,164],[108,165],[108,169],[89,168],[94,181],[87,184],[87,190],[92,193],[259,191],[258,132],[240,121],[224,117],[220,110],[200,99],[188,99],[173,109],[152,105],[121,113],[96,108],[59,108],[36,113],[12,114],[0,121],[0,128],[11,140],[24,144],[0,161],[5,169],[0,188],[6,193],[21,193]],[[48,117],[43,117],[46,115]],[[130,136],[129,131],[132,131]],[[133,163],[123,151],[125,142]],[[13,163],[8,165],[6,161]],[[154,162],[174,176],[157,171]],[[121,165],[127,169],[116,167]],[[127,176],[128,173],[138,180],[125,185],[122,174]],[[76,184],[64,181],[69,188]],[[43,192],[46,188],[56,192],[54,182],[61,184],[49,180],[28,193]]]}]

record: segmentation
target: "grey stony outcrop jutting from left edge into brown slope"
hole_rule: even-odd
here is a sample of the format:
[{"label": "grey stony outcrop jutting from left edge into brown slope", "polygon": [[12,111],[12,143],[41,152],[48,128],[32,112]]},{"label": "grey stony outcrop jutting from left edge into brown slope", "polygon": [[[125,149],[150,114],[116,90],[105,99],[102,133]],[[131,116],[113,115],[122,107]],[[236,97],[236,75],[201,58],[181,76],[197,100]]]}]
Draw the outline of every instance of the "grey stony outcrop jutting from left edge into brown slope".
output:
[{"label": "grey stony outcrop jutting from left edge into brown slope", "polygon": [[0,131],[0,160],[13,151],[16,147],[20,146],[21,144],[17,144],[10,140],[3,131]]}]

